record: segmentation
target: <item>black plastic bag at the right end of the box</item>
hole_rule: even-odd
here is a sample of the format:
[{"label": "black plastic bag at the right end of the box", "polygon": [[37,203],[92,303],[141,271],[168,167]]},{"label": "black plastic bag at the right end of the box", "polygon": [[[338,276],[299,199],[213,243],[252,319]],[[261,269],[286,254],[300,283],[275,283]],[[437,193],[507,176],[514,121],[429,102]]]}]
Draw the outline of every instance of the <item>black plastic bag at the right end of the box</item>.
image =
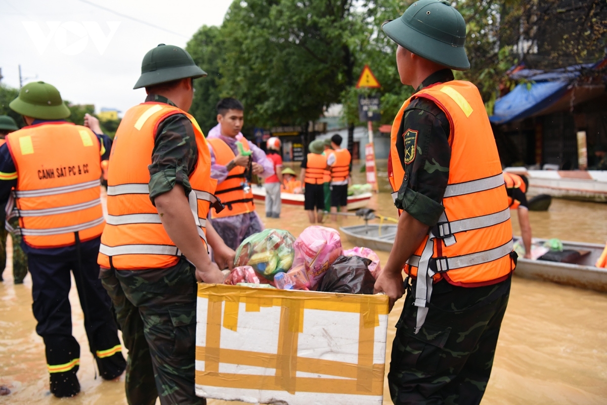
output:
[{"label": "black plastic bag at the right end of the box", "polygon": [[371,260],[360,256],[339,256],[327,269],[318,291],[373,294],[375,278],[368,269]]}]

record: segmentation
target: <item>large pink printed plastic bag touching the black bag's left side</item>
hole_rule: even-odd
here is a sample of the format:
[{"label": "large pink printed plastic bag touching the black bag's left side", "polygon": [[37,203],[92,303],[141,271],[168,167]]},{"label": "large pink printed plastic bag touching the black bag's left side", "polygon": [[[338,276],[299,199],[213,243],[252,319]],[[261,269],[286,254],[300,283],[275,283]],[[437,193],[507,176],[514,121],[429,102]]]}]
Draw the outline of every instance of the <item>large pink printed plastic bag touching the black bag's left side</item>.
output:
[{"label": "large pink printed plastic bag touching the black bag's left side", "polygon": [[306,287],[315,290],[331,264],[342,254],[339,232],[324,226],[309,226],[295,241],[291,269],[303,267],[308,275]]}]

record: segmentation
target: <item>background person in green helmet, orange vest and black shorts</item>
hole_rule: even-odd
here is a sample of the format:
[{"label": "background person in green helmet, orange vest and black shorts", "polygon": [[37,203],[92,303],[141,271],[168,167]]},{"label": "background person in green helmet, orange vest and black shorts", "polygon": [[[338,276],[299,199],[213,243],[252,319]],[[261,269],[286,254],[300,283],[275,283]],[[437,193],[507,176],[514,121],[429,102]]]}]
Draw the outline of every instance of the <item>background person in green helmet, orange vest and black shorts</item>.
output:
[{"label": "background person in green helmet, orange vest and black shorts", "polygon": [[[322,223],[325,209],[325,169],[327,158],[322,155],[323,141],[316,139],[308,146],[310,153],[302,161],[299,177],[304,184],[304,209],[308,212],[310,224]],[[314,214],[316,209],[316,214]]]}]

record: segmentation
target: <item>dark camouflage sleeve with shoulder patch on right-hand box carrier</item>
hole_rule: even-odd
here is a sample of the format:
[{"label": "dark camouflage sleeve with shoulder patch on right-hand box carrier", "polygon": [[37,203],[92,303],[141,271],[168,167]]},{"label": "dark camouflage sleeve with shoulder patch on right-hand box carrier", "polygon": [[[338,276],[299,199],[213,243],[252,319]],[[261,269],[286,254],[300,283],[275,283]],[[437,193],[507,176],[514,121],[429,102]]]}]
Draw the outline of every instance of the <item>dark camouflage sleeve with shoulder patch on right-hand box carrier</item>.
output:
[{"label": "dark camouflage sleeve with shoulder patch on right-hand box carrier", "polygon": [[425,98],[414,99],[404,112],[396,149],[405,169],[395,206],[427,226],[435,226],[449,181],[449,120]]}]

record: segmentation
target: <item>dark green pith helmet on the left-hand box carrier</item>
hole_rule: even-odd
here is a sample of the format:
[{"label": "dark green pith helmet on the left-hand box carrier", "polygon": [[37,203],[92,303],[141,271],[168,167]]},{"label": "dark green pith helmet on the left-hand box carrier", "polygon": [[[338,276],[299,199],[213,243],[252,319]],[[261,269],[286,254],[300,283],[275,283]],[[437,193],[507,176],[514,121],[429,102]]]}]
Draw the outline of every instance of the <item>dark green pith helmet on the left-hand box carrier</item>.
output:
[{"label": "dark green pith helmet on the left-hand box carrier", "polygon": [[174,45],[160,44],[143,57],[141,76],[133,89],[203,76],[206,76],[206,72],[194,63],[188,51]]}]

